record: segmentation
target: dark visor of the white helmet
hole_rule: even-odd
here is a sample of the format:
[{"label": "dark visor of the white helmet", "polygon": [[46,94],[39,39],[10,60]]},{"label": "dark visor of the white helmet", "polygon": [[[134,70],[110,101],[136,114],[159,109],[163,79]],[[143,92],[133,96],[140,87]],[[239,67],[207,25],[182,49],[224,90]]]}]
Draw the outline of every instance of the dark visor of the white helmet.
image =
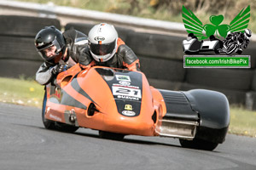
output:
[{"label": "dark visor of the white helmet", "polygon": [[95,44],[90,43],[90,51],[96,55],[106,55],[113,52],[115,48],[116,41],[105,43],[105,44]]}]

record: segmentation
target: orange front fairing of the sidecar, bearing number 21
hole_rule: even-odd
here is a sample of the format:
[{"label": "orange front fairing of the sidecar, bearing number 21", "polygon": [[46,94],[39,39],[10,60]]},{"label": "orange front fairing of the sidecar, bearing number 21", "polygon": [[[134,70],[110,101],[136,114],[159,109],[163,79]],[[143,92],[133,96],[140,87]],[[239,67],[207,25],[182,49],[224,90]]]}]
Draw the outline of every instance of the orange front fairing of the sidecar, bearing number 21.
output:
[{"label": "orange front fairing of the sidecar, bearing number 21", "polygon": [[[79,65],[74,65],[61,72],[56,82],[56,86],[47,85],[46,88],[46,119],[72,124],[68,116],[75,114],[75,125],[79,127],[112,133],[159,135],[157,132],[160,132],[166,105],[160,92],[149,86],[142,72],[102,66],[81,70]],[[93,114],[89,111],[91,104],[96,107]]]}]

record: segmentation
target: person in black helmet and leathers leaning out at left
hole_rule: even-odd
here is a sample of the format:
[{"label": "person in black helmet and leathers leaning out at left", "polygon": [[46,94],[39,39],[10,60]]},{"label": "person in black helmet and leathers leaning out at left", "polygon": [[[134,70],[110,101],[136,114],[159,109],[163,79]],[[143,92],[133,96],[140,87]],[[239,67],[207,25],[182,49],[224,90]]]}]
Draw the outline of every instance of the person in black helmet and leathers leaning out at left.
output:
[{"label": "person in black helmet and leathers leaning out at left", "polygon": [[61,33],[55,26],[47,26],[38,31],[35,46],[44,59],[36,74],[36,81],[42,85],[53,82],[61,71],[76,65],[84,56],[88,46],[87,36],[76,30]]}]

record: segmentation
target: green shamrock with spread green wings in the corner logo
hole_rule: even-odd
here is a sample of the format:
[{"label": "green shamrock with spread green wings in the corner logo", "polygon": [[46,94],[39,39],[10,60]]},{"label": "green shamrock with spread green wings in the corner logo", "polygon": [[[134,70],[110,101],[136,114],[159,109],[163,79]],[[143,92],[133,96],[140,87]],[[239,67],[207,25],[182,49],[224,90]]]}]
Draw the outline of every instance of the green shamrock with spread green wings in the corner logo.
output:
[{"label": "green shamrock with spread green wings in the corner logo", "polygon": [[[224,20],[222,14],[211,15],[209,18],[212,24],[202,25],[201,20],[199,20],[195,14],[183,6],[183,23],[188,31],[188,33],[194,33],[199,40],[207,39],[212,35],[216,37],[226,37],[228,32],[241,31],[243,32],[250,20],[250,6],[241,9],[241,12],[236,15],[236,17],[230,22],[230,25],[221,24]],[[203,34],[206,31],[206,36]]]}]

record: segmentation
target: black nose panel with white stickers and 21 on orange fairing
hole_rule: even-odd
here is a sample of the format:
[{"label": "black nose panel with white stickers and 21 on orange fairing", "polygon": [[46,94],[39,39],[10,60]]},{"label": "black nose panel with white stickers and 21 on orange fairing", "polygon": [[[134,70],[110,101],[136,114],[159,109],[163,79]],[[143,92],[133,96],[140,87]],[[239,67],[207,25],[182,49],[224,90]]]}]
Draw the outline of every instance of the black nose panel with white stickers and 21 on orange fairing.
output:
[{"label": "black nose panel with white stickers and 21 on orange fairing", "polygon": [[[111,70],[111,71],[110,71]],[[102,76],[110,75],[114,78],[103,78],[112,91],[119,114],[123,116],[138,116],[141,112],[143,98],[143,75],[136,71],[119,69],[96,68]]]}]

